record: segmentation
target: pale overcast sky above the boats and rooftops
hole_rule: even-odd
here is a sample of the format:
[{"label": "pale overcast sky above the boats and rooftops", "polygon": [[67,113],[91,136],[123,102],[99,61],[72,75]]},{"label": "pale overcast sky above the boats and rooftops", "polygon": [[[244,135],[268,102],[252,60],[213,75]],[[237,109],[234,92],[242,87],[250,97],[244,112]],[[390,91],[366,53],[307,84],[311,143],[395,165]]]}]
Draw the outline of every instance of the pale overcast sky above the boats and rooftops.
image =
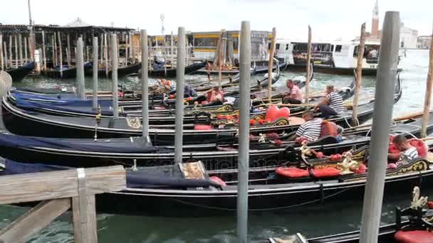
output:
[{"label": "pale overcast sky above the boats and rooftops", "polygon": [[[0,10],[0,23],[28,23],[27,0],[7,1]],[[314,40],[350,40],[359,36],[360,25],[371,29],[375,0],[31,0],[32,18],[37,24],[64,25],[75,18],[92,25],[146,28],[161,33],[160,13],[164,13],[165,33],[237,30],[241,21],[251,21],[251,29],[271,31],[277,38],[306,39],[308,24]],[[400,11],[402,22],[419,31],[432,33],[432,0],[379,0],[380,28],[385,11]]]}]

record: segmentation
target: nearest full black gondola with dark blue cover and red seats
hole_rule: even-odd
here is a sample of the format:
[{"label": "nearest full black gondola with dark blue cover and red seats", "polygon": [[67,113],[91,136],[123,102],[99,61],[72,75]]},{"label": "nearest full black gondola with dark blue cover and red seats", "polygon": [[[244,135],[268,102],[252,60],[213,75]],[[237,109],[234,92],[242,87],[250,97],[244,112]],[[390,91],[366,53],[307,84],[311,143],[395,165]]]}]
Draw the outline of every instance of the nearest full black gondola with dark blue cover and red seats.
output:
[{"label": "nearest full black gondola with dark blue cover and red seats", "polygon": [[[367,161],[368,148],[360,148],[352,154],[353,161],[360,165]],[[335,167],[341,162],[308,161],[315,171],[290,180],[281,180],[276,175],[279,167],[251,168],[249,210],[282,212],[337,200],[360,200],[367,173],[345,174],[344,167]],[[329,171],[328,168],[333,168],[335,173],[319,173]],[[207,217],[232,214],[236,211],[237,173],[235,169],[207,171],[200,161],[138,167],[136,171],[131,168],[127,169],[127,188],[100,195],[97,207],[100,212],[125,215]],[[433,169],[426,159],[414,158],[405,165],[387,170],[384,195],[410,190],[421,181],[424,186],[433,183]]]}]

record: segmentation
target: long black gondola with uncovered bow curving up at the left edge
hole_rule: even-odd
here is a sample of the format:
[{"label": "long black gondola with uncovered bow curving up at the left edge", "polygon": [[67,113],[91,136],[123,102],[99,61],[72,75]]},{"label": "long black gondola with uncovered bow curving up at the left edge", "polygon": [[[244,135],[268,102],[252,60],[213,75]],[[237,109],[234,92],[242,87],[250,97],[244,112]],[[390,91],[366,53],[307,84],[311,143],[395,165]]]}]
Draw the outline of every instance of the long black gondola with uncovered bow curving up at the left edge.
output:
[{"label": "long black gondola with uncovered bow curving up at the left edge", "polygon": [[[395,102],[402,95],[402,85],[397,82],[395,88]],[[58,117],[36,112],[26,112],[14,107],[6,97],[3,97],[3,121],[4,126],[14,134],[26,136],[48,136],[61,138],[91,138],[95,135],[95,119],[88,117]],[[374,101],[362,104],[358,107],[358,120],[367,121],[372,117]],[[261,115],[264,119],[264,115]],[[257,115],[256,118],[260,116]],[[260,119],[260,118],[259,118]],[[349,126],[352,119],[352,111],[345,109],[342,114],[330,117],[330,121],[340,126]],[[218,124],[218,129],[198,129],[197,126],[184,125],[184,144],[213,144],[216,141],[229,141],[236,139],[238,126],[233,122]],[[258,124],[251,126],[251,134],[258,136],[268,132],[291,133],[298,129],[302,121],[291,117],[288,120],[276,120],[271,124]],[[221,128],[221,125],[223,128]],[[163,128],[160,127],[160,128]],[[174,129],[150,129],[152,142],[157,145],[171,145],[174,141]],[[121,138],[141,135],[140,117],[127,117],[126,119],[101,118],[98,120],[98,137],[100,138]],[[221,139],[224,138],[224,139]]]}]

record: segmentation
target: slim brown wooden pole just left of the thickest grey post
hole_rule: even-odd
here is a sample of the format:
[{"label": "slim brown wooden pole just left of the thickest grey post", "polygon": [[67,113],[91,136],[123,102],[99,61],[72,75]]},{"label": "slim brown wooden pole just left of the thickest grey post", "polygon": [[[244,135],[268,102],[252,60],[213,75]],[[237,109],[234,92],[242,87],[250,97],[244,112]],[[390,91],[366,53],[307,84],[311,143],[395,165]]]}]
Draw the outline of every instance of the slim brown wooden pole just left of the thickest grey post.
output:
[{"label": "slim brown wooden pole just left of the thickest grey post", "polygon": [[360,88],[362,80],[362,59],[364,58],[365,47],[365,23],[361,26],[360,45],[358,45],[358,60],[356,63],[356,80],[355,80],[355,93],[353,95],[353,110],[352,110],[352,124],[359,126],[358,121],[358,100],[360,97]]}]

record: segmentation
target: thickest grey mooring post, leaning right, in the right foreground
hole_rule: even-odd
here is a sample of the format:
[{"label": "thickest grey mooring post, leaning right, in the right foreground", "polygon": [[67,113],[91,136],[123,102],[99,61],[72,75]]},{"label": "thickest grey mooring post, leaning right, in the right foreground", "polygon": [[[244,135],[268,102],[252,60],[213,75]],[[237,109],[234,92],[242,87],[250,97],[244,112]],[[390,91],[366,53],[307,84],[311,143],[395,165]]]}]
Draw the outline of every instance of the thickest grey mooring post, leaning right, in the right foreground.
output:
[{"label": "thickest grey mooring post, leaning right, in the right foreground", "polygon": [[395,78],[400,42],[400,13],[387,11],[382,28],[379,65],[377,68],[372,138],[365,185],[360,232],[361,243],[375,243],[382,212],[390,120],[394,105]]}]

